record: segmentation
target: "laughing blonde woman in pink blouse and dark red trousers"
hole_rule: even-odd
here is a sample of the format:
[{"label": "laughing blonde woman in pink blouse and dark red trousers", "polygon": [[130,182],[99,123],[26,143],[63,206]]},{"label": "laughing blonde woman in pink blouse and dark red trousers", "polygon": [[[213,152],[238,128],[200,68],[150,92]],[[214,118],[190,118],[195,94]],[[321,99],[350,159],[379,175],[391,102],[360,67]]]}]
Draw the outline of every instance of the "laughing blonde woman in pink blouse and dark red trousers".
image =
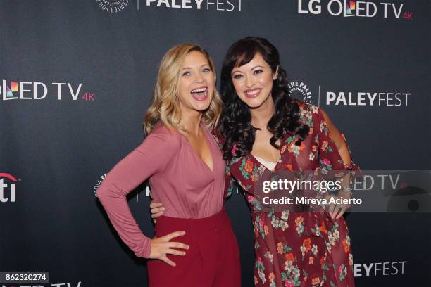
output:
[{"label": "laughing blonde woman in pink blouse and dark red trousers", "polygon": [[[144,126],[149,134],[108,172],[97,196],[120,238],[148,262],[149,286],[240,286],[237,239],[227,217],[225,160],[211,130],[222,102],[215,68],[199,45],[170,49],[160,63]],[[166,211],[156,237],[139,229],[126,195],[149,179]]]}]

